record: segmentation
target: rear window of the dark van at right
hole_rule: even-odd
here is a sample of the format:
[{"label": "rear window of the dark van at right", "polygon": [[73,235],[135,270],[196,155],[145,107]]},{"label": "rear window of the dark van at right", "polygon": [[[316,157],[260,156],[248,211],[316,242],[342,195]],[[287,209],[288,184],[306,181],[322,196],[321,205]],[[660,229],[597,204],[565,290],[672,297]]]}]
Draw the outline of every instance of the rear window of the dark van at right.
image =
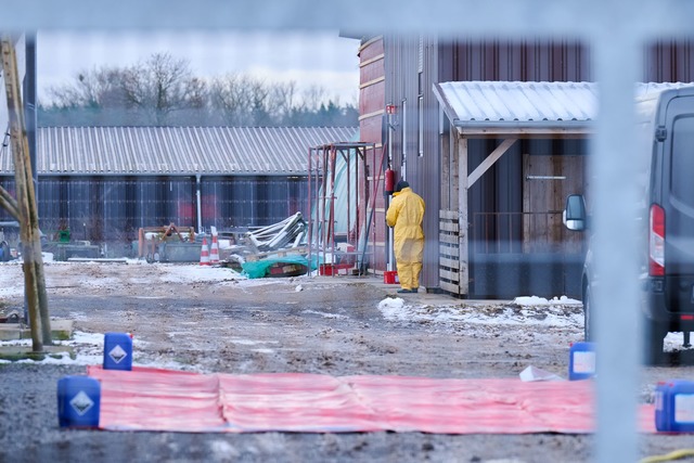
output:
[{"label": "rear window of the dark van at right", "polygon": [[674,119],[670,178],[672,196],[694,207],[694,116]]}]

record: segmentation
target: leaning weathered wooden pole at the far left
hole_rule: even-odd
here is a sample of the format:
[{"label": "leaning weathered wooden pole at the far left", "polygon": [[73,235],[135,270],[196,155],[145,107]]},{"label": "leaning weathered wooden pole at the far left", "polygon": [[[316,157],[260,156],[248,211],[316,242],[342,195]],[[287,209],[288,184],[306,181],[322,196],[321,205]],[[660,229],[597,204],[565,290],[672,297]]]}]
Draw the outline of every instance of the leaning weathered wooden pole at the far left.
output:
[{"label": "leaning weathered wooden pole at the far left", "polygon": [[14,158],[14,179],[16,185],[16,203],[11,197],[3,197],[9,203],[10,214],[18,214],[20,236],[22,240],[22,257],[24,260],[24,291],[29,312],[29,326],[31,329],[33,350],[43,351],[43,345],[51,345],[51,320],[48,311],[48,297],[46,294],[46,278],[43,273],[43,257],[41,255],[41,239],[39,232],[39,215],[36,205],[36,192],[34,177],[29,159],[29,146],[26,137],[24,120],[24,107],[17,60],[14,43],[11,37],[3,35],[0,40],[2,54],[2,77],[8,100],[8,113],[10,118],[10,140],[12,156]]}]

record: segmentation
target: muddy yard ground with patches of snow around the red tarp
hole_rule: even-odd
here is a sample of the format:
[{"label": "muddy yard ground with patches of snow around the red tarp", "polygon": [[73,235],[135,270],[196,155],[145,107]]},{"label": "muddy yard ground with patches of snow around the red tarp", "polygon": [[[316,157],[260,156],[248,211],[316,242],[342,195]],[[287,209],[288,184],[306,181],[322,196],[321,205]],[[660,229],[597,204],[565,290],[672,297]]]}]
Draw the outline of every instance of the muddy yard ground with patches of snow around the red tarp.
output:
[{"label": "muddy yard ground with patches of snow around the red tarp", "polygon": [[[249,281],[227,269],[205,276],[198,266],[133,262],[46,269],[52,317],[73,320],[79,333],[132,333],[136,364],[197,372],[481,378],[517,377],[534,365],[566,377],[569,345],[582,333],[577,305],[398,295],[376,278]],[[0,266],[5,310],[21,307],[21,291],[12,290],[21,280],[20,266]],[[384,300],[398,296],[404,296],[401,306],[384,309]],[[588,462],[593,455],[590,435],[61,429],[56,382],[85,370],[74,362],[0,364],[0,461]],[[693,373],[687,365],[644,369],[642,400],[651,399],[657,381]],[[690,440],[643,435],[640,451],[666,453],[691,447]]]}]

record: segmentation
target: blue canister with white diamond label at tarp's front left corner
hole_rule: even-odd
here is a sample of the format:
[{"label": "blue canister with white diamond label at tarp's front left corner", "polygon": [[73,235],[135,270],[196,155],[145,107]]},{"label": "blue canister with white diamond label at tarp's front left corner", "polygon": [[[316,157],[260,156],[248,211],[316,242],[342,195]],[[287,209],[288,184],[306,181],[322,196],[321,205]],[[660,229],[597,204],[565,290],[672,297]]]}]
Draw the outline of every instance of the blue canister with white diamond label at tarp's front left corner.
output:
[{"label": "blue canister with white diamond label at tarp's front left corner", "polygon": [[57,381],[57,423],[61,427],[99,427],[101,383],[89,376]]}]

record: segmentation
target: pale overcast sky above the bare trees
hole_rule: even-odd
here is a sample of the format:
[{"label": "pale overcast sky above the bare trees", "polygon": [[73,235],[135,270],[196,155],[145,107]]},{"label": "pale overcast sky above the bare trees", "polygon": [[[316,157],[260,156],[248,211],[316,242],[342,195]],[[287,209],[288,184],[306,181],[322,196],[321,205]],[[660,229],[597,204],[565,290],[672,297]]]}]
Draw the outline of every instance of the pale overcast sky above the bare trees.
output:
[{"label": "pale overcast sky above the bare trees", "polygon": [[227,73],[261,77],[268,82],[294,80],[299,91],[318,85],[340,104],[357,104],[359,41],[338,33],[39,33],[39,100],[47,89],[75,81],[80,72],[125,67],[152,54],[187,59],[195,76]]}]

